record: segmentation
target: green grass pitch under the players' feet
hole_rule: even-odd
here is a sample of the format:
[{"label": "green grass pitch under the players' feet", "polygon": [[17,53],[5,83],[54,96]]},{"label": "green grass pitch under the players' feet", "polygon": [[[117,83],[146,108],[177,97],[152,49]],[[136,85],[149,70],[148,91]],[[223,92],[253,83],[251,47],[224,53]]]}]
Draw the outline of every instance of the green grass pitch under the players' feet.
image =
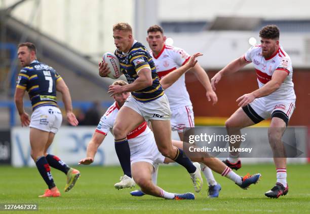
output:
[{"label": "green grass pitch under the players' feet", "polygon": [[[259,172],[258,184],[242,190],[225,177],[215,174],[222,190],[219,198],[207,198],[208,186],[204,180],[201,193],[195,193],[189,175],[180,166],[160,166],[158,184],[169,192],[195,193],[195,200],[165,200],[152,196],[133,197],[131,190],[115,190],[113,184],[122,175],[121,167],[79,166],[81,177],[75,187],[64,192],[66,176],[52,169],[54,181],[61,192],[59,198],[38,198],[46,185],[36,168],[0,166],[0,203],[37,203],[43,213],[309,213],[310,165],[289,165],[289,193],[278,199],[269,199],[264,192],[276,183],[276,170],[272,164],[244,165],[238,174]],[[0,211],[1,212],[1,211]],[[7,213],[7,212],[6,212]],[[9,213],[9,212],[8,212]],[[19,211],[18,213],[23,213]],[[29,212],[26,212],[29,213]]]}]

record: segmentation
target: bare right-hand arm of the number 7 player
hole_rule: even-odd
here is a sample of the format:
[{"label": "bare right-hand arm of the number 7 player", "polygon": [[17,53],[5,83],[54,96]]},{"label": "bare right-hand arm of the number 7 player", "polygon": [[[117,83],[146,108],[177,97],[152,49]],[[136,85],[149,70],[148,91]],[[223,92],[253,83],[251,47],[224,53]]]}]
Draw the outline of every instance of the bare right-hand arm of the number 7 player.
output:
[{"label": "bare right-hand arm of the number 7 player", "polygon": [[59,91],[62,95],[62,101],[65,106],[67,121],[72,126],[77,126],[79,121],[76,119],[75,115],[72,112],[72,101],[69,88],[65,84],[64,80],[58,80],[56,83],[56,90]]}]

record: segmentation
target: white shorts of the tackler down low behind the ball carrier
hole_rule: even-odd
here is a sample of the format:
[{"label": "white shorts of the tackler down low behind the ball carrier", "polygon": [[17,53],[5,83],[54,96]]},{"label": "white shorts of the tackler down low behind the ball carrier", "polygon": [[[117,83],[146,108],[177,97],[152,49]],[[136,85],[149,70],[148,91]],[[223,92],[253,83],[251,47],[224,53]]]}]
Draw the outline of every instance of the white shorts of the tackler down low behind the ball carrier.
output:
[{"label": "white shorts of the tackler down low behind the ball carrier", "polygon": [[[152,165],[164,163],[163,156],[157,148],[153,132],[128,140],[130,147],[130,163],[148,162]],[[135,145],[135,146],[132,146]]]}]

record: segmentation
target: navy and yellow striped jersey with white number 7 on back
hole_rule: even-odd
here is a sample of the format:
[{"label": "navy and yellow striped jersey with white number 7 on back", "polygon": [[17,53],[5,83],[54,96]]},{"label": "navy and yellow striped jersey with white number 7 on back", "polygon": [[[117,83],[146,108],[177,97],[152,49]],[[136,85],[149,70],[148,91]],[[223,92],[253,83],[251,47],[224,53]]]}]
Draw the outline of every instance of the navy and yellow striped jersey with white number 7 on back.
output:
[{"label": "navy and yellow striped jersey with white number 7 on back", "polygon": [[54,68],[34,60],[20,70],[16,87],[27,90],[34,111],[45,105],[57,106],[56,82],[61,79]]}]

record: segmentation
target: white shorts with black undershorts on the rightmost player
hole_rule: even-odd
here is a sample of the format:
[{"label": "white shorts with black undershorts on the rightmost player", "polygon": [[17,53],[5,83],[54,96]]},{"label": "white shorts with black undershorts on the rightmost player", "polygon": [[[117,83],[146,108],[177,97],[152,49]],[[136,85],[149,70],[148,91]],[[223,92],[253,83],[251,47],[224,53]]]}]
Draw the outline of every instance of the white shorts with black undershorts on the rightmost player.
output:
[{"label": "white shorts with black undershorts on the rightmost player", "polygon": [[287,124],[295,109],[295,99],[273,100],[260,97],[249,105],[243,107],[243,110],[254,123],[259,123],[270,117],[279,117]]}]

